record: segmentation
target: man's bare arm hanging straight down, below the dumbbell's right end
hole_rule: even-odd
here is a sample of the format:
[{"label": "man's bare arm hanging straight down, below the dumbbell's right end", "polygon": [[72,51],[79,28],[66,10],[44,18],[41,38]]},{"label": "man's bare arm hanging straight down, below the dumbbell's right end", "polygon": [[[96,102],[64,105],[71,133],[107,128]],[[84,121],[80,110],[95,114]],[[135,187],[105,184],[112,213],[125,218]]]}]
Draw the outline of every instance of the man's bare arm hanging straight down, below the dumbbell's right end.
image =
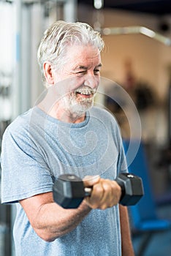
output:
[{"label": "man's bare arm hanging straight down, below the dumbbell's right end", "polygon": [[122,241],[122,255],[134,256],[134,249],[132,246],[132,238],[129,227],[129,216],[126,206],[119,206],[120,221],[121,221],[121,241]]}]

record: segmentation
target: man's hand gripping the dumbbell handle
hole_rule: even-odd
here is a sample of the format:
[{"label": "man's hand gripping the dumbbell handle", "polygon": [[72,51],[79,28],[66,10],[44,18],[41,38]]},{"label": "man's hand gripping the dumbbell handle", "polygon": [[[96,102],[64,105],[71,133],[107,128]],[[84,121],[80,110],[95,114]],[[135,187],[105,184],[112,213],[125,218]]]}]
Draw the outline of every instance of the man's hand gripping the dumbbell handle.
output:
[{"label": "man's hand gripping the dumbbell handle", "polygon": [[118,204],[121,198],[121,187],[116,181],[100,178],[100,176],[86,176],[83,182],[85,187],[92,187],[91,196],[84,199],[89,207],[103,210]]}]

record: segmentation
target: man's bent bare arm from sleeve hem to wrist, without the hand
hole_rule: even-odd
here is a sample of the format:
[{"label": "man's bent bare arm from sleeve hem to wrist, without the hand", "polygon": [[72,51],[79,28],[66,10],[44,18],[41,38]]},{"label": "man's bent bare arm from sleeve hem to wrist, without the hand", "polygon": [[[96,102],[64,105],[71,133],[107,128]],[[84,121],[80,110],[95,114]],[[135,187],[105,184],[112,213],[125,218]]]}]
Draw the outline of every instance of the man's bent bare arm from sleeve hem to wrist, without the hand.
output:
[{"label": "man's bent bare arm from sleeve hem to wrist, without the hand", "polygon": [[52,192],[20,200],[20,205],[37,235],[49,242],[72,231],[91,211],[86,203],[77,209],[64,209],[54,203]]}]

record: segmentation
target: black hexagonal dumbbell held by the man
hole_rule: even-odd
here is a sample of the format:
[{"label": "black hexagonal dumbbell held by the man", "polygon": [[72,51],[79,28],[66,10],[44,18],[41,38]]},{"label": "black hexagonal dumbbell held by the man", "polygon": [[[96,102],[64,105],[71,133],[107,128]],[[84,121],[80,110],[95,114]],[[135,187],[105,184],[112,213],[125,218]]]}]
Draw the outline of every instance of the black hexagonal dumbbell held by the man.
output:
[{"label": "black hexagonal dumbbell held by the man", "polygon": [[[142,179],[132,173],[120,173],[115,181],[121,187],[119,203],[123,206],[134,206],[144,195]],[[91,191],[92,187],[85,187],[81,178],[63,174],[53,184],[53,200],[63,208],[77,208]]]}]

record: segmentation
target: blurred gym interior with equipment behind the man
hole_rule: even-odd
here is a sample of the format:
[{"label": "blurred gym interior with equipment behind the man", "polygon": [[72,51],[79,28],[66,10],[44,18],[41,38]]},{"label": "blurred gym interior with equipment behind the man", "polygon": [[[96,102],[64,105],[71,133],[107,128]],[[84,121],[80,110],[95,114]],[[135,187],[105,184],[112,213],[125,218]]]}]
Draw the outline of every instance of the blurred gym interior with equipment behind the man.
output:
[{"label": "blurred gym interior with equipment behind the man", "polygon": [[[145,184],[140,206],[129,209],[135,253],[171,255],[171,1],[1,0],[0,146],[4,129],[44,90],[37,48],[56,20],[86,22],[102,33],[101,74],[110,80],[104,94],[115,95],[113,81],[118,83],[141,121],[140,151],[130,166]],[[97,101],[115,115],[127,142],[131,131],[123,108],[113,97]],[[15,208],[0,204],[0,256],[18,256],[14,218]]]}]

